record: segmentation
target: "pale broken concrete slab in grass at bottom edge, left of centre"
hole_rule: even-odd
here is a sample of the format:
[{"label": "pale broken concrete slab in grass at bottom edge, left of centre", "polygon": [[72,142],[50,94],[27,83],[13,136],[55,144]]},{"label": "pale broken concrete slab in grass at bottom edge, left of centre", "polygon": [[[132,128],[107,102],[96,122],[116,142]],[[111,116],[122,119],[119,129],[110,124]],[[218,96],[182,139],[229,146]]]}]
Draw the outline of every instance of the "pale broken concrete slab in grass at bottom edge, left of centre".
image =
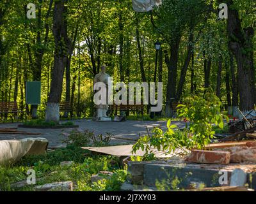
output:
[{"label": "pale broken concrete slab in grass at bottom edge, left of centre", "polygon": [[44,184],[42,186],[36,186],[36,191],[73,191],[73,183],[67,182],[55,182],[52,184]]}]

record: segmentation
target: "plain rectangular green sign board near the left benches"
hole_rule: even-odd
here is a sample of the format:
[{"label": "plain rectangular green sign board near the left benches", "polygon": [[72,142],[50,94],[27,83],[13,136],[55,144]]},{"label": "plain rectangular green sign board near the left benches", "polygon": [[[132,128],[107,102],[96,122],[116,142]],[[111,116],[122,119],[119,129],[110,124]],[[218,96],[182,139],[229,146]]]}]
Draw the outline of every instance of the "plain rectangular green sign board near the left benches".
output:
[{"label": "plain rectangular green sign board near the left benches", "polygon": [[26,82],[26,103],[28,105],[40,105],[41,82]]}]

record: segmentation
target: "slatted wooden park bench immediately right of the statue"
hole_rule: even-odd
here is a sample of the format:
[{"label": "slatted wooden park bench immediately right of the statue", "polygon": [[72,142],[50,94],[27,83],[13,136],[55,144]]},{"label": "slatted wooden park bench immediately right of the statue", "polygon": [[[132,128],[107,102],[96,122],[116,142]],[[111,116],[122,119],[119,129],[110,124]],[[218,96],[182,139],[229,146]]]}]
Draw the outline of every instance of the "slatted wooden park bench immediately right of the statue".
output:
[{"label": "slatted wooden park bench immediately right of the statue", "polygon": [[140,105],[109,105],[109,108],[108,108],[111,112],[115,111],[115,113],[117,114],[118,111],[124,111],[124,112],[127,112],[127,111],[131,111],[132,113],[136,113],[137,115],[137,119],[138,119],[138,116],[139,114],[142,115],[142,119],[144,119],[144,105],[143,104],[140,104]]}]

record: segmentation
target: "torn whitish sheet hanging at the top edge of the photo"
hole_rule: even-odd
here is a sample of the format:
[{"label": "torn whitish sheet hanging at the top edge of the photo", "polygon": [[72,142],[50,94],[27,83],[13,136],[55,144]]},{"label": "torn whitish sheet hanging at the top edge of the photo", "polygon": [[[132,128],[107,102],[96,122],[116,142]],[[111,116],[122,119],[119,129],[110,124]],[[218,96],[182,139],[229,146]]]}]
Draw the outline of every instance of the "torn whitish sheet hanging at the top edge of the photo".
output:
[{"label": "torn whitish sheet hanging at the top edge of the photo", "polygon": [[132,7],[136,12],[147,12],[153,10],[155,6],[160,6],[162,0],[132,0]]}]

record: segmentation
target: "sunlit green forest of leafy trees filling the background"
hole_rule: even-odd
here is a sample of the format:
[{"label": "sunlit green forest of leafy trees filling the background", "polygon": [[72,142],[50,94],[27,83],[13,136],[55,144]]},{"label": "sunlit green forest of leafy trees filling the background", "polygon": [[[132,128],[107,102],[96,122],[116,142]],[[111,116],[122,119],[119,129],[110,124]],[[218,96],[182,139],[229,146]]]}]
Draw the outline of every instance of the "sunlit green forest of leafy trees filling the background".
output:
[{"label": "sunlit green forest of leafy trees filling the background", "polygon": [[[35,19],[26,17],[29,3]],[[218,17],[220,3],[228,4],[228,19]],[[93,77],[106,64],[115,82],[163,82],[166,117],[170,101],[207,87],[223,108],[250,110],[255,27],[255,0],[163,0],[147,13],[136,13],[131,0],[0,0],[0,101],[32,112],[26,81],[41,81],[35,116],[45,110],[52,82],[60,94],[51,102],[70,101],[77,116],[92,116]]]}]

